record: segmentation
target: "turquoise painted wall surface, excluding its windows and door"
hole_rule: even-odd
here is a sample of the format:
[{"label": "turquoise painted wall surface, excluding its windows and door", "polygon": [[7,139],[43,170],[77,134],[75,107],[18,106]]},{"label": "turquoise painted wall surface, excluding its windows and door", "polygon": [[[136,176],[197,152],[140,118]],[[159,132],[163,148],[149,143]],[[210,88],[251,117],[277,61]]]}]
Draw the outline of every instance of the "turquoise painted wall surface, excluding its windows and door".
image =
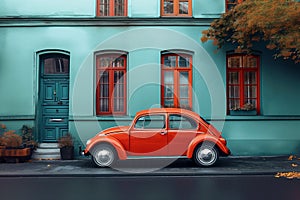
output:
[{"label": "turquoise painted wall surface, excluding its windows and door", "polygon": [[[225,10],[224,2],[194,0],[193,17],[217,17]],[[159,0],[129,0],[128,16],[160,19],[159,7]],[[75,0],[71,4],[29,0],[26,5],[4,0],[0,2],[0,16],[93,18],[95,0]],[[201,26],[188,23],[184,26],[103,26],[93,19],[89,23],[88,26],[70,25],[70,22],[60,26],[1,24],[0,123],[9,129],[19,129],[23,124],[36,126],[38,52],[68,51],[70,132],[77,138],[76,145],[82,146],[100,130],[129,124],[137,111],[159,107],[160,55],[162,51],[177,49],[193,54],[194,110],[223,132],[233,155],[300,153],[299,64],[274,60],[272,52],[257,47],[261,52],[261,115],[226,116],[226,51],[232,49],[214,53],[211,42],[200,42],[201,31],[207,28],[208,21]],[[127,52],[127,116],[95,116],[94,55],[103,50]]]}]

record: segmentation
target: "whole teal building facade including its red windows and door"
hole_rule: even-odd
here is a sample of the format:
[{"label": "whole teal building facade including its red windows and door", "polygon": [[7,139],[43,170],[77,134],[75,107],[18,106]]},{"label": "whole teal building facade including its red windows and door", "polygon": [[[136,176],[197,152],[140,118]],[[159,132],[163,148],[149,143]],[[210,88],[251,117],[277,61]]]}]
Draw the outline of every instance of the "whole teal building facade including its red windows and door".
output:
[{"label": "whole teal building facade including its red windows and door", "polygon": [[215,125],[234,156],[299,154],[300,65],[274,60],[263,45],[247,56],[202,43],[226,7],[225,0],[2,0],[0,122],[34,127],[38,142],[70,132],[84,148],[139,110],[183,107]]}]

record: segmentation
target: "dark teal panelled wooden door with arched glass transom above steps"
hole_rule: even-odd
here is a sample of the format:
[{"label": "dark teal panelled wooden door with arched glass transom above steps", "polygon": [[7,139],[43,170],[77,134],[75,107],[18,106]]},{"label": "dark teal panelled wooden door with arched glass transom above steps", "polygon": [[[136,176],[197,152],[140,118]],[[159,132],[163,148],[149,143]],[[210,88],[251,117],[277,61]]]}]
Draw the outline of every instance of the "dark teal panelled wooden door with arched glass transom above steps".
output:
[{"label": "dark teal panelled wooden door with arched glass transom above steps", "polygon": [[47,54],[41,57],[39,138],[57,142],[68,132],[69,58]]}]

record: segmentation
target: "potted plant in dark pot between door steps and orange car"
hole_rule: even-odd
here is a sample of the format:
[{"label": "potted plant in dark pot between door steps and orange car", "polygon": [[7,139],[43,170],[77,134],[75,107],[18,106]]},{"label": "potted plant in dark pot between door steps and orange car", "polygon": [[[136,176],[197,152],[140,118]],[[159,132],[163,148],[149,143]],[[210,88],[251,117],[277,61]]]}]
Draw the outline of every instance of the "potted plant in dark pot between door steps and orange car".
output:
[{"label": "potted plant in dark pot between door steps and orange car", "polygon": [[60,156],[62,160],[74,159],[74,141],[70,133],[59,138],[58,146],[60,148]]}]

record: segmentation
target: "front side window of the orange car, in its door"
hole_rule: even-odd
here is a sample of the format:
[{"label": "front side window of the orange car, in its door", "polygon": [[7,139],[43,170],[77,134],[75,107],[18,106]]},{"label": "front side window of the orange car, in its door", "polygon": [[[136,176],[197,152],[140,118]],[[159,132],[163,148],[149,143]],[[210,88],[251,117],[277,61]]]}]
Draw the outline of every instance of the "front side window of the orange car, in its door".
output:
[{"label": "front side window of the orange car, in its door", "polygon": [[140,117],[134,125],[137,129],[164,129],[165,127],[164,115],[145,115]]}]

